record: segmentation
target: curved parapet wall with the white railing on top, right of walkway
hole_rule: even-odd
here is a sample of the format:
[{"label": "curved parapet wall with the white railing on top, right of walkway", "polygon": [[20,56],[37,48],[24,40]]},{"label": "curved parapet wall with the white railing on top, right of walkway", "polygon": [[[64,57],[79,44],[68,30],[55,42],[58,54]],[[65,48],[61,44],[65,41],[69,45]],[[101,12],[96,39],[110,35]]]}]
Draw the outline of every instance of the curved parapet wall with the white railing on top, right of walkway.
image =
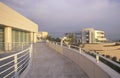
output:
[{"label": "curved parapet wall with the white railing on top, right of walkway", "polygon": [[92,53],[89,53],[90,50],[84,50],[81,47],[76,49],[78,47],[74,45],[64,46],[63,43],[61,46],[53,43],[48,43],[47,45],[77,63],[90,78],[97,78],[97,76],[99,78],[120,78],[120,68],[118,66],[116,67],[115,64],[113,65],[107,62],[97,53],[93,53],[92,55]]}]

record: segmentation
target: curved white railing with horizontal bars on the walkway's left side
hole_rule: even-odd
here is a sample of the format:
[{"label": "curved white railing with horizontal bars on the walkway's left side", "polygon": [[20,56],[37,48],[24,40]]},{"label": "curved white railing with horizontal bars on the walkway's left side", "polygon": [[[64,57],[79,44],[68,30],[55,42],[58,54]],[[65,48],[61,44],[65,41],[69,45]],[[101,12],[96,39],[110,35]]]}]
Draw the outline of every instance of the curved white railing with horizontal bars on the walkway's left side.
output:
[{"label": "curved white railing with horizontal bars on the walkway's left side", "polygon": [[0,58],[0,78],[17,78],[30,64],[32,44],[17,53]]}]

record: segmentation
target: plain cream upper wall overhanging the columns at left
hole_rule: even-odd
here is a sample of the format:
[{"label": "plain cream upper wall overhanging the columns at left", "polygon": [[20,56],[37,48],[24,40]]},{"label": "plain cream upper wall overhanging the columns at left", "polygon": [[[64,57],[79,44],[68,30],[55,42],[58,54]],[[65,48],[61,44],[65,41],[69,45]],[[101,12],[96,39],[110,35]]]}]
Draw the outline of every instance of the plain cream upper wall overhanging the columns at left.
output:
[{"label": "plain cream upper wall overhanging the columns at left", "polygon": [[38,32],[38,25],[0,2],[0,24],[31,32]]}]

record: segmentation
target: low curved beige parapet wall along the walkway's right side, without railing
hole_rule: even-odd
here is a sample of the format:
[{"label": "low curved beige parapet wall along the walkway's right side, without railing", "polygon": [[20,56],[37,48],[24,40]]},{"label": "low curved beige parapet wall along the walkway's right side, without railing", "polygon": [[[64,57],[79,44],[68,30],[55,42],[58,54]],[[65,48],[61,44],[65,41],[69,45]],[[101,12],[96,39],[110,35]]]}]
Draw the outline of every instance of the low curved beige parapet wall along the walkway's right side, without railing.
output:
[{"label": "low curved beige parapet wall along the walkway's right side, without railing", "polygon": [[94,58],[85,53],[56,44],[48,43],[47,45],[78,64],[89,78],[120,78],[120,75],[116,75],[116,72],[109,70],[108,66],[103,63],[97,63]]}]

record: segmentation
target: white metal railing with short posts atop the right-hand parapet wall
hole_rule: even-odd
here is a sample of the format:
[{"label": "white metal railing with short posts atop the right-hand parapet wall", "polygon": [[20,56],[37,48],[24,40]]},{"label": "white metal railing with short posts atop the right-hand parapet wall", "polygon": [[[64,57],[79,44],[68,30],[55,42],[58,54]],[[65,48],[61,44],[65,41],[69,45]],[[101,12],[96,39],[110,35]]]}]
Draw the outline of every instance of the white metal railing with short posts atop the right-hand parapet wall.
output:
[{"label": "white metal railing with short posts atop the right-hand parapet wall", "polygon": [[[55,42],[56,45],[60,45],[60,43]],[[86,49],[82,49],[79,46],[74,46],[74,45],[65,45],[62,44],[62,46],[68,47],[69,49],[74,49],[77,50],[80,53],[85,53],[89,56],[92,56],[93,58],[96,59],[96,63],[99,63],[99,61],[103,62],[104,64],[106,64],[107,66],[109,66],[110,68],[112,68],[113,70],[115,70],[116,72],[120,73],[120,64],[94,52],[94,51],[90,51],[90,50],[86,50]]]}]

